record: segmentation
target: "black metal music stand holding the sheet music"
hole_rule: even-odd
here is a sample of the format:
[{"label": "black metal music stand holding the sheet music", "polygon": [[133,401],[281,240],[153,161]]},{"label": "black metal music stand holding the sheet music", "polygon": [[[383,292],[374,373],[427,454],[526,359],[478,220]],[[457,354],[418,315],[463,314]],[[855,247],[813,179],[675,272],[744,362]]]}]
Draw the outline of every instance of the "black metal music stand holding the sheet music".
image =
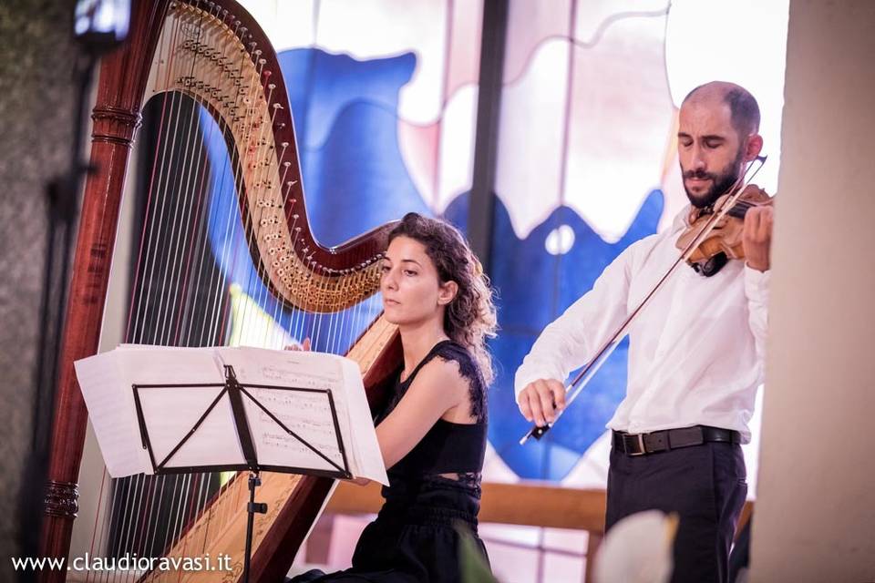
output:
[{"label": "black metal music stand holding the sheet music", "polygon": [[[249,504],[246,506],[246,512],[248,517],[246,519],[246,547],[244,550],[243,556],[243,581],[249,582],[249,570],[250,570],[250,561],[252,559],[252,528],[255,522],[255,514],[264,514],[267,512],[267,504],[260,502],[255,502],[255,487],[261,485],[261,478],[259,477],[259,473],[262,470],[268,470],[271,472],[283,472],[287,474],[309,474],[313,476],[325,476],[325,477],[334,477],[334,478],[351,478],[353,477],[352,473],[349,471],[349,464],[346,460],[346,451],[344,447],[343,438],[340,433],[340,424],[337,420],[337,410],[335,408],[335,400],[331,394],[330,389],[306,389],[303,387],[293,387],[293,386],[280,386],[274,384],[241,384],[237,381],[237,375],[234,373],[234,369],[232,366],[224,365],[225,368],[225,382],[224,384],[218,383],[210,383],[210,384],[132,384],[131,388],[134,392],[134,404],[137,408],[137,420],[139,422],[139,435],[142,440],[143,447],[149,451],[149,462],[152,465],[152,471],[155,474],[180,474],[180,473],[188,473],[188,472],[206,472],[206,471],[214,471],[214,472],[222,472],[222,471],[242,471],[249,470]],[[167,388],[217,388],[222,387],[221,392],[212,400],[212,403],[209,407],[207,407],[206,411],[201,414],[201,417],[195,422],[194,425],[191,426],[190,430],[186,432],[185,436],[182,437],[180,442],[175,445],[168,455],[164,457],[160,462],[155,459],[155,453],[152,449],[151,440],[149,439],[149,426],[146,423],[146,418],[143,414],[143,407],[140,401],[140,392],[146,389],[167,389]],[[273,389],[280,391],[293,391],[299,393],[309,393],[309,394],[324,394],[327,401],[328,406],[331,410],[332,421],[334,422],[335,429],[335,437],[337,439],[337,448],[340,451],[340,455],[343,458],[343,467],[336,464],[332,459],[330,459],[327,455],[324,455],[318,449],[308,443],[303,437],[295,434],[291,429],[289,429],[283,422],[277,418],[273,412],[271,412],[264,404],[260,403],[258,399],[256,399],[252,394],[246,390],[246,388],[256,388],[256,389]],[[232,414],[233,414],[233,423],[234,429],[237,432],[238,439],[240,441],[241,450],[243,453],[243,458],[245,459],[245,464],[221,464],[221,465],[196,465],[196,466],[177,466],[177,465],[169,465],[171,459],[177,452],[180,451],[181,447],[189,441],[192,435],[195,435],[198,428],[203,424],[204,420],[207,416],[212,412],[212,410],[219,404],[224,395],[228,395],[229,402],[231,404]],[[253,404],[258,406],[258,408],[264,413],[267,414],[275,424],[278,424],[283,431],[285,431],[288,435],[291,435],[294,439],[301,442],[307,448],[314,452],[315,455],[318,455],[328,464],[335,467],[334,470],[324,470],[324,469],[316,469],[310,467],[292,467],[292,466],[284,466],[284,465],[262,465],[259,464],[258,455],[255,451],[255,445],[253,445],[252,441],[252,432],[249,428],[249,420],[246,416],[246,409],[243,406],[243,396],[246,396]]]}]

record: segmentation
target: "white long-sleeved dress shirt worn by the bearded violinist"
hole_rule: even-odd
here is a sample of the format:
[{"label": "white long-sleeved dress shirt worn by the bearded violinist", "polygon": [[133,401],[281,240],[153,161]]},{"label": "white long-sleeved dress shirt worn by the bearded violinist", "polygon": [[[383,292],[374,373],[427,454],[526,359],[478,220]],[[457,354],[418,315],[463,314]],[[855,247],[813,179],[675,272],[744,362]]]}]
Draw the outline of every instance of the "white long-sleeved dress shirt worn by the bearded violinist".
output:
[{"label": "white long-sleeved dress shirt worn by the bearded violinist", "polygon": [[[518,397],[532,381],[563,381],[592,358],[679,257],[674,242],[689,211],[627,247],[592,291],[541,332],[517,370]],[[768,279],[744,261],[729,261],[712,277],[679,265],[633,322],[626,396],[607,426],[637,434],[713,425],[748,443],[763,380]]]}]

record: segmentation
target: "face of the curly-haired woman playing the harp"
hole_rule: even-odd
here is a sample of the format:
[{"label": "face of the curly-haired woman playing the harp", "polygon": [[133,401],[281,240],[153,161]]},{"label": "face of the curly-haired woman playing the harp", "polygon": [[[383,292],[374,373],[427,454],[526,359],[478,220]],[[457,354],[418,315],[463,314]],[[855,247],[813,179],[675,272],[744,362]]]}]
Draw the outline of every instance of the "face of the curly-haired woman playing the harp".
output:
[{"label": "face of the curly-haired woman playing the harp", "polygon": [[442,318],[443,307],[456,295],[456,283],[441,284],[426,246],[409,237],[399,236],[389,243],[382,271],[383,310],[386,320],[394,324]]}]

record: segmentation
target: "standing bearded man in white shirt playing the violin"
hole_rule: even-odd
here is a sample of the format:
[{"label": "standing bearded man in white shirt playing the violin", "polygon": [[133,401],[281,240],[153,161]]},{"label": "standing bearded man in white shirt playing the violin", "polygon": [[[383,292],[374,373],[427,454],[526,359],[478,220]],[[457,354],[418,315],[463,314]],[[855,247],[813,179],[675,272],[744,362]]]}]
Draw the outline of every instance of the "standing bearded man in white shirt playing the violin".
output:
[{"label": "standing bearded man in white shirt playing the violin", "polygon": [[[516,373],[520,412],[539,426],[565,406],[563,380],[592,359],[678,258],[689,220],[733,188],[759,155],[759,107],[745,88],[696,87],[677,133],[690,199],[672,227],[630,245],[540,334]],[[648,509],[674,512],[673,581],[726,581],[747,485],[739,444],[763,380],[771,206],[744,217],[745,259],[706,277],[681,266],[629,332],[626,395],[612,429],[605,527]]]}]

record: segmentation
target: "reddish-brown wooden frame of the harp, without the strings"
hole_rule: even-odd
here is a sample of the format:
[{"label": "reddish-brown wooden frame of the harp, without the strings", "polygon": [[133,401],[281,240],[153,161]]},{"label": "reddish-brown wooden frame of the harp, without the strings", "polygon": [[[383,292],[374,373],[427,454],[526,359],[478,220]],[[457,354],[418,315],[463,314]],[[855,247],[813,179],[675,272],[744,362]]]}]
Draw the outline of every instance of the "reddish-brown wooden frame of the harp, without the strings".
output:
[{"label": "reddish-brown wooden frame of the harp, without the strings", "polygon": [[[91,151],[98,171],[86,186],[62,341],[49,467],[53,495],[46,506],[44,556],[66,557],[69,552],[76,514],[72,493],[87,423],[72,363],[98,350],[121,192],[141,109],[149,97],[184,95],[209,112],[221,129],[253,270],[283,309],[342,312],[365,302],[377,291],[377,260],[391,228],[385,225],[332,248],[315,239],[304,208],[283,76],[272,46],[252,16],[231,0],[144,0],[136,6],[129,44],[101,65]],[[373,396],[373,387],[399,362],[399,346],[394,328],[381,319],[362,330],[348,355],[360,364],[365,387]],[[209,549],[214,556],[236,553],[232,561],[241,558],[245,507],[235,502],[238,490],[245,490],[244,482],[232,480],[208,496],[203,507],[180,515],[178,536],[161,552],[183,556],[196,547],[201,552]],[[265,476],[262,492],[272,511],[256,524],[255,580],[280,578],[288,569],[331,484],[320,478]],[[145,492],[157,486],[146,481],[125,487],[129,492],[137,487]],[[221,525],[213,522],[220,515]],[[148,533],[149,528],[153,527],[143,531]],[[132,540],[137,539],[134,532]],[[116,545],[113,552],[120,548]],[[160,580],[157,573],[140,577]],[[174,577],[178,580],[179,574]],[[186,575],[180,580],[190,577],[197,578]],[[235,570],[226,579],[237,577]],[[63,580],[63,574],[46,573],[43,579]]]}]

